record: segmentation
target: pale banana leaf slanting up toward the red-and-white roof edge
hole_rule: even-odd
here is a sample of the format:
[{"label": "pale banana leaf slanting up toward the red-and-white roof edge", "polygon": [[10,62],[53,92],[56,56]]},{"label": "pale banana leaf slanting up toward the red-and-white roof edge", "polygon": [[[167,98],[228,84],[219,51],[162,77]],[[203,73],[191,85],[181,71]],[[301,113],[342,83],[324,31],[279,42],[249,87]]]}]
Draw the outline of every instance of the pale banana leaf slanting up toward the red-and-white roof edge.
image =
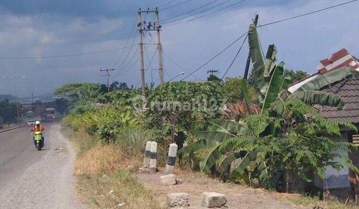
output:
[{"label": "pale banana leaf slanting up toward the red-and-white roof edge", "polygon": [[353,72],[352,68],[344,67],[338,70],[334,70],[323,75],[319,75],[313,80],[307,82],[299,89],[294,91],[293,93],[302,92],[302,91],[313,91],[313,90],[321,90],[326,86],[334,85],[335,83],[349,77],[356,76],[357,73]]}]

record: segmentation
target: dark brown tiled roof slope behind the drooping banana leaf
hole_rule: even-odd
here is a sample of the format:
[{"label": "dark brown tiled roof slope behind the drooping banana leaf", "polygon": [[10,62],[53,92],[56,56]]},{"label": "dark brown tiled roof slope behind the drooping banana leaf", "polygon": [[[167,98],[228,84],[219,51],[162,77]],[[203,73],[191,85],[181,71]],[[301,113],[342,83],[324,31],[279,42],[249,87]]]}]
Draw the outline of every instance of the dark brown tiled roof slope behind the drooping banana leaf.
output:
[{"label": "dark brown tiled roof slope behind the drooping banana leaf", "polygon": [[359,79],[348,78],[325,90],[324,92],[339,95],[344,100],[345,106],[339,110],[337,107],[323,106],[323,117],[334,120],[347,120],[359,123]]}]

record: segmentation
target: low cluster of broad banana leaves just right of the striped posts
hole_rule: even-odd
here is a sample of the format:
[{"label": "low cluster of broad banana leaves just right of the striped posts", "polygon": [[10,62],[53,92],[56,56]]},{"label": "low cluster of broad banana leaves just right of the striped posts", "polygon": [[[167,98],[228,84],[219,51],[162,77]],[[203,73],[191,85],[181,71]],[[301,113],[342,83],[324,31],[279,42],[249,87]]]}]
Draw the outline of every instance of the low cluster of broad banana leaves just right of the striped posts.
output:
[{"label": "low cluster of broad banana leaves just right of the striped posts", "polygon": [[243,122],[225,119],[196,120],[180,124],[178,131],[190,132],[197,140],[180,149],[179,154],[207,149],[208,154],[199,162],[199,169],[205,173],[223,175],[234,159],[246,154],[239,148],[239,139],[244,136],[246,129]]}]

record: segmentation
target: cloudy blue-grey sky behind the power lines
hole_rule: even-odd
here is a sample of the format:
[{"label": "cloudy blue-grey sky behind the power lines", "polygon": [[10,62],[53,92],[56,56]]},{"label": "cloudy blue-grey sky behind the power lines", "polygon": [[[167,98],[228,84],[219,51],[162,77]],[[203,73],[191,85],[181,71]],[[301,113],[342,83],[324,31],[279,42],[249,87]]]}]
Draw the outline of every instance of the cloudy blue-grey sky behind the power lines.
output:
[{"label": "cloudy blue-grey sky behind the power lines", "polygon": [[[171,2],[170,4],[160,6]],[[165,80],[180,80],[237,37],[248,30],[255,14],[258,24],[280,20],[347,0],[244,0],[220,12],[192,20],[196,16],[223,8],[239,0],[216,0],[201,9],[173,18],[183,23],[167,25],[166,19],[213,0],[0,0],[0,58],[38,57],[103,53],[42,59],[0,59],[0,94],[19,97],[42,95],[66,83],[105,83],[100,69],[114,68],[110,81],[138,85],[140,64],[138,51],[137,11],[159,7],[161,42],[164,48]],[[175,6],[173,6],[175,5]],[[275,43],[277,59],[286,68],[316,72],[319,60],[346,48],[359,56],[359,1],[286,22],[258,28],[263,51]],[[194,16],[194,17],[196,17]],[[153,21],[151,14],[143,19]],[[165,21],[162,21],[165,20]],[[169,20],[167,20],[169,21]],[[161,23],[162,24],[162,23]],[[135,34],[137,34],[135,36]],[[145,43],[155,43],[156,33],[144,34]],[[243,39],[208,63],[186,80],[205,80],[207,70],[219,70],[222,77]],[[118,49],[127,45],[133,47]],[[112,50],[114,49],[114,50]],[[146,82],[159,83],[155,45],[145,45]],[[243,45],[234,64],[225,75],[243,76],[248,42]],[[153,61],[150,64],[150,61]],[[133,59],[131,59],[133,58]],[[177,64],[175,64],[175,63]],[[184,75],[179,73],[185,71]],[[6,78],[15,78],[13,81]],[[139,86],[138,86],[139,87]]]}]

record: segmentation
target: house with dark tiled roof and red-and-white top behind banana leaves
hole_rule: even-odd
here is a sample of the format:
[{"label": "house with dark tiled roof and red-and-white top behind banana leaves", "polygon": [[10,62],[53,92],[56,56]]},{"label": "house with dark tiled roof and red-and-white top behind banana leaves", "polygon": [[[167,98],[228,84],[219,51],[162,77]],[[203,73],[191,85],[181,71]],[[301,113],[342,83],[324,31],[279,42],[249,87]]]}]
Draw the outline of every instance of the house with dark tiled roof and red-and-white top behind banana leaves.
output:
[{"label": "house with dark tiled roof and red-and-white top behind banana leaves", "polygon": [[[342,49],[333,54],[331,58],[321,60],[321,65],[317,67],[318,72],[292,84],[289,87],[290,92],[301,88],[309,81],[322,76],[328,72],[340,71],[343,67],[351,67],[359,71],[359,60],[350,55],[346,49]],[[359,128],[359,79],[352,76],[343,78],[340,81],[327,81],[328,85],[318,89],[321,91],[333,93],[342,97],[345,102],[343,109],[330,106],[317,106],[321,115],[331,120],[346,120],[355,124]],[[335,141],[347,141],[359,145],[359,135],[349,130],[342,130],[342,136],[333,137]],[[344,150],[337,151],[340,154],[347,155],[354,164],[359,167],[359,153],[348,153]],[[354,177],[354,178],[353,178]],[[335,196],[346,200],[348,197],[354,198],[354,187],[357,186],[355,176],[347,167],[337,172],[332,167],[326,170],[326,177],[321,180],[316,178],[315,186],[324,191],[324,198]]]}]

